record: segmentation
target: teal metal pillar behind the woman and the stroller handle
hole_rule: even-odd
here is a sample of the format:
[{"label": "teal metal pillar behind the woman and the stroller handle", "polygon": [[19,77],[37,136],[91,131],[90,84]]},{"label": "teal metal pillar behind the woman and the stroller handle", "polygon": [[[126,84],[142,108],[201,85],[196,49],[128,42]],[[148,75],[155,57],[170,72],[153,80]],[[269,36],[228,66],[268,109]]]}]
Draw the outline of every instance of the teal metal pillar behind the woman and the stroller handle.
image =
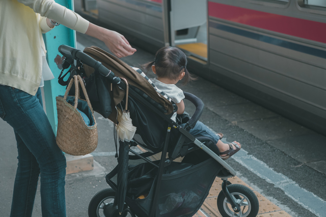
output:
[{"label": "teal metal pillar behind the woman and the stroller handle", "polygon": [[[56,0],[56,3],[73,10],[73,0]],[[58,47],[62,44],[76,47],[76,33],[74,30],[68,29],[64,25],[59,25],[44,34],[43,38],[47,50],[47,63],[55,76],[54,79],[44,82],[46,115],[51,123],[53,131],[57,133],[58,115],[56,96],[64,95],[66,91],[66,87],[58,83],[58,76],[61,72],[61,62],[63,60],[61,53],[58,51]]]}]

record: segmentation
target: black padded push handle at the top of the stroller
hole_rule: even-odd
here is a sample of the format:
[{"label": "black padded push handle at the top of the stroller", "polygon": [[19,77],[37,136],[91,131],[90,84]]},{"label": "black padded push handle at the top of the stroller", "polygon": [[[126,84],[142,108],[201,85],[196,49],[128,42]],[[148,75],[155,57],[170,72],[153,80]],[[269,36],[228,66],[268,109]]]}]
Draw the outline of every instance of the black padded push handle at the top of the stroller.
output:
[{"label": "black padded push handle at the top of the stroller", "polygon": [[90,56],[88,56],[86,53],[75,49],[73,47],[67,46],[67,45],[60,45],[58,48],[59,52],[68,60],[69,59],[74,59],[74,60],[80,60],[84,64],[92,67],[95,69],[95,71],[98,70],[98,72],[103,75],[104,77],[108,78],[111,83],[114,84],[119,84],[120,83],[120,78],[115,76],[115,74],[107,69],[105,66],[102,65],[101,62],[94,60]]}]

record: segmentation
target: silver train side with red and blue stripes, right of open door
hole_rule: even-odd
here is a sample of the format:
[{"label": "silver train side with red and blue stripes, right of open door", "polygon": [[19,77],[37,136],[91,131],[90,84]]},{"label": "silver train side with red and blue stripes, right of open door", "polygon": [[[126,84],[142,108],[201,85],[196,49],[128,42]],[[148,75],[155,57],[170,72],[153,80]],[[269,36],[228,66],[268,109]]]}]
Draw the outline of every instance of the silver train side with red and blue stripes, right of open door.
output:
[{"label": "silver train side with red and blue stripes, right of open door", "polygon": [[210,78],[325,134],[326,16],[262,3],[209,1]]}]

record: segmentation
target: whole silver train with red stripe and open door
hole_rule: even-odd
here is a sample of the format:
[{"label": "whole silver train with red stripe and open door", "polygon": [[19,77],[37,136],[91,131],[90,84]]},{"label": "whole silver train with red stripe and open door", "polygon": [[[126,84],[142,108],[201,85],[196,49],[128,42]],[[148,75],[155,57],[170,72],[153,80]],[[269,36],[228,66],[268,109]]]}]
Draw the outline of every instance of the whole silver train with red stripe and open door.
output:
[{"label": "whole silver train with red stripe and open door", "polygon": [[150,52],[326,135],[326,1],[74,0],[74,10]]}]

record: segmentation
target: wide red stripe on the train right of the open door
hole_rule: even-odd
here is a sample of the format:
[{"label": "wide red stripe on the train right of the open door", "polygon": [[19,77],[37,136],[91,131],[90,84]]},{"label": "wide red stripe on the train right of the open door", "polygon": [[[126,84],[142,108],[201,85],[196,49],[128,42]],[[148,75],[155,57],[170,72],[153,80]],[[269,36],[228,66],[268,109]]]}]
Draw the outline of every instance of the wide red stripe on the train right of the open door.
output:
[{"label": "wide red stripe on the train right of the open door", "polygon": [[208,2],[208,15],[326,43],[326,23]]}]

